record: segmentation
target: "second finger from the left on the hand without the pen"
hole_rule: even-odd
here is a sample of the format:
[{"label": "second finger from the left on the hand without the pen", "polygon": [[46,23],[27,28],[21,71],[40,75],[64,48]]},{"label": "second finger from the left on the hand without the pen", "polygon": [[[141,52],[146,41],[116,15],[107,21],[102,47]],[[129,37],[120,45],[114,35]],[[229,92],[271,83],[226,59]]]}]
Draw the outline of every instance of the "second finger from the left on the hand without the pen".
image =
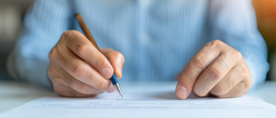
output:
[{"label": "second finger from the left on the hand without the pen", "polygon": [[[236,53],[236,52],[235,52]],[[216,58],[198,77],[193,91],[198,96],[206,95],[236,65],[236,54],[228,51]]]}]

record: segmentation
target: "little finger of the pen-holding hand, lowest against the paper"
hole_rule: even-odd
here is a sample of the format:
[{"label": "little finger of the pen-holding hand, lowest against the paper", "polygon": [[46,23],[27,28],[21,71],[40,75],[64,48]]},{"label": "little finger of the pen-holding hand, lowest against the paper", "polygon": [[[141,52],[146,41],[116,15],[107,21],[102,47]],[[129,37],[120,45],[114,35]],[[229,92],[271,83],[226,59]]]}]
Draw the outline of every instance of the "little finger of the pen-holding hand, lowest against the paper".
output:
[{"label": "little finger of the pen-holding hand, lowest against the paper", "polygon": [[53,88],[54,88],[54,91],[59,95],[67,96],[67,97],[91,97],[96,95],[96,94],[83,94],[62,84],[58,84],[58,85],[53,84]]}]

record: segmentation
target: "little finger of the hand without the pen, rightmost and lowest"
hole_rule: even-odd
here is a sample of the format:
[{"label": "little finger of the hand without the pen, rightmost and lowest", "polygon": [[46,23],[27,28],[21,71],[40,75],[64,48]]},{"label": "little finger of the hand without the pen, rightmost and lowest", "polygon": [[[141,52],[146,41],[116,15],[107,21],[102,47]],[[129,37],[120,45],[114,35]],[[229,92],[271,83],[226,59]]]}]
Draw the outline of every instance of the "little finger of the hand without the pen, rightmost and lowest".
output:
[{"label": "little finger of the hand without the pen, rightmost and lowest", "polygon": [[252,85],[251,78],[245,79],[237,84],[233,89],[231,89],[228,93],[223,95],[216,95],[218,98],[229,98],[229,97],[238,97],[247,93]]}]

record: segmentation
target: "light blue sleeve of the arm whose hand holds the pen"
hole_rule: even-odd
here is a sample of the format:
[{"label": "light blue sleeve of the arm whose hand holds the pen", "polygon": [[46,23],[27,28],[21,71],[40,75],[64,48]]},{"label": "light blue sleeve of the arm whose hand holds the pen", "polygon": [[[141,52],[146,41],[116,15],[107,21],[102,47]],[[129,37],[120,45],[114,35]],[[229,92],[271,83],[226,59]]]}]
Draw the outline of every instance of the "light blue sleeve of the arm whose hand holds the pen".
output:
[{"label": "light blue sleeve of the arm whose hand holds the pen", "polygon": [[24,18],[24,29],[7,62],[8,72],[18,80],[51,88],[48,53],[61,34],[70,28],[69,0],[36,0]]}]

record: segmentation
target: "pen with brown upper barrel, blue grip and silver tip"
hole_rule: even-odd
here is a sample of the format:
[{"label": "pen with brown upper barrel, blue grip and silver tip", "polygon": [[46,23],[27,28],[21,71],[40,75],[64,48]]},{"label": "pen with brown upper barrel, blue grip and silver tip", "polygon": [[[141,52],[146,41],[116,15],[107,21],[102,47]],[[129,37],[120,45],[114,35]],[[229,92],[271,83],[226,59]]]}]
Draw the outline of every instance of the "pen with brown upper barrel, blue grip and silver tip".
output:
[{"label": "pen with brown upper barrel, blue grip and silver tip", "polygon": [[[98,51],[100,51],[100,49],[98,48],[98,46],[97,46],[96,42],[94,41],[92,35],[89,33],[88,28],[85,26],[85,24],[84,24],[84,22],[83,22],[81,16],[80,16],[78,13],[76,13],[76,14],[75,14],[75,18],[76,18],[77,21],[79,22],[79,26],[80,26],[80,28],[82,29],[82,31],[83,31],[84,35],[86,36],[86,38],[87,38],[89,41],[92,42],[92,44],[95,46],[95,48],[96,48]],[[100,52],[101,52],[101,51],[100,51]],[[122,97],[122,92],[121,92],[119,83],[118,83],[117,78],[115,77],[114,73],[113,73],[112,77],[110,78],[110,81],[111,81],[112,85],[115,87],[115,89],[118,91],[118,93],[119,93],[119,94],[121,95],[121,97]],[[122,97],[122,98],[123,98],[123,97]]]}]

